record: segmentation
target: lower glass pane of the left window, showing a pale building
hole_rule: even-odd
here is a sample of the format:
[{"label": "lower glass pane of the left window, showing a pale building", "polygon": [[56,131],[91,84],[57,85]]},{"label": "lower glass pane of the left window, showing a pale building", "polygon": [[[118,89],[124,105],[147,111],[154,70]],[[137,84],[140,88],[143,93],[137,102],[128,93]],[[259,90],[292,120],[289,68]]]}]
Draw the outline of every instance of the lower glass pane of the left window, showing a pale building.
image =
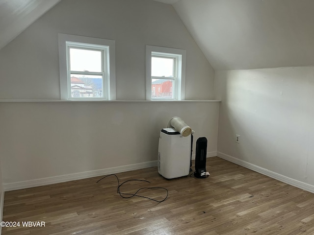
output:
[{"label": "lower glass pane of the left window, showing a pale building", "polygon": [[71,73],[72,98],[102,98],[103,76]]}]

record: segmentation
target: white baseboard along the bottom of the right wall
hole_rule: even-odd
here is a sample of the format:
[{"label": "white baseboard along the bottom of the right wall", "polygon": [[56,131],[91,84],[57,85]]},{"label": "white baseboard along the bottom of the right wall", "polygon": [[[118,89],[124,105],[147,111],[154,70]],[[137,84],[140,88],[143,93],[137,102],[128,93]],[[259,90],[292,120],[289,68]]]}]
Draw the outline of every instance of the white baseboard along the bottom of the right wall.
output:
[{"label": "white baseboard along the bottom of the right wall", "polygon": [[306,191],[314,193],[314,186],[313,185],[310,185],[310,184],[307,184],[307,183],[304,183],[304,182],[292,179],[292,178],[287,177],[285,175],[282,175],[282,174],[276,173],[274,171],[262,168],[262,167],[260,167],[258,165],[255,165],[255,164],[248,163],[246,161],[237,159],[235,157],[232,157],[230,155],[227,155],[227,154],[224,154],[224,153],[221,153],[221,152],[217,152],[217,156],[219,158],[223,158],[223,159],[225,159],[225,160],[227,160],[229,162],[241,165],[241,166],[243,166],[245,168],[248,168],[250,170],[254,170],[254,171],[258,172],[258,173],[261,173],[263,175],[271,177],[271,178],[273,178],[275,180],[279,180],[281,182],[284,182],[284,183],[286,183],[288,185],[292,185],[294,187],[301,188],[303,190],[306,190]]}]

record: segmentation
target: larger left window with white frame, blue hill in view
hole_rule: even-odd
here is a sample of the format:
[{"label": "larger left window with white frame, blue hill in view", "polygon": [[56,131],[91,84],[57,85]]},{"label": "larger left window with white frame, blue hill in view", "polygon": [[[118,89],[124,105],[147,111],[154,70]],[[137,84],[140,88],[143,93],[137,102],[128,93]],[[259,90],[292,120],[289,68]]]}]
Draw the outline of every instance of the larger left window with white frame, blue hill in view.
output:
[{"label": "larger left window with white frame, blue hill in view", "polygon": [[115,99],[115,42],[59,34],[61,99]]}]

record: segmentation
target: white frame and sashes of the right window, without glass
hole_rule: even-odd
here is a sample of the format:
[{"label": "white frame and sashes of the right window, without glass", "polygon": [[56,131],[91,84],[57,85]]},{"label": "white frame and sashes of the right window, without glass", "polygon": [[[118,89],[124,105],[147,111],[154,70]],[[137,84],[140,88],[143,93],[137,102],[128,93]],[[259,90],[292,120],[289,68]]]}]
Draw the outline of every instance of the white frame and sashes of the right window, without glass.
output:
[{"label": "white frame and sashes of the right window, without glass", "polygon": [[[173,98],[152,97],[152,56],[174,58],[174,77],[162,77],[162,79],[173,79],[175,86]],[[146,46],[146,99],[147,100],[184,100],[185,98],[185,63],[186,50],[169,47]]]}]

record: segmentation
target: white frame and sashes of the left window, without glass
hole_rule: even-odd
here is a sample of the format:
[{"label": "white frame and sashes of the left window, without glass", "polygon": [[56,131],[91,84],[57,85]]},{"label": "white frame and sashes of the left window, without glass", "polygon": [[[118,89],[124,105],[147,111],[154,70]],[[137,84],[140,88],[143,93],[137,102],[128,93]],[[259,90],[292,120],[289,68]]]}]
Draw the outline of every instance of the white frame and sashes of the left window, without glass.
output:
[{"label": "white frame and sashes of the left window, without glass", "polygon": [[[83,37],[69,34],[58,34],[60,98],[67,100],[111,100],[116,99],[115,78],[115,41],[100,38]],[[69,70],[68,51],[70,47],[94,48],[103,50],[103,85],[104,97],[71,97],[71,71]],[[84,72],[78,72],[83,74]],[[98,75],[98,74],[96,74]]]}]

